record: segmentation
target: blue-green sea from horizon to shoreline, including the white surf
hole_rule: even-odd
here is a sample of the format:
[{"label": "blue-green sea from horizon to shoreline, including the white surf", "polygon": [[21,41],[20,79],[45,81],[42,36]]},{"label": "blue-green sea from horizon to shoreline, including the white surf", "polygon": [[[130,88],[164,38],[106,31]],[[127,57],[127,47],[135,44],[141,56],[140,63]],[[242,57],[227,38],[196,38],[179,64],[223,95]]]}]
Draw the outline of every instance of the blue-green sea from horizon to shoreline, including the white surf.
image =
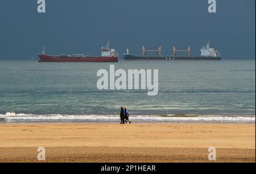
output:
[{"label": "blue-green sea from horizon to shoreline, including the white surf", "polygon": [[[159,69],[158,96],[98,90],[99,69]],[[255,122],[255,60],[38,63],[0,60],[0,120]]]}]

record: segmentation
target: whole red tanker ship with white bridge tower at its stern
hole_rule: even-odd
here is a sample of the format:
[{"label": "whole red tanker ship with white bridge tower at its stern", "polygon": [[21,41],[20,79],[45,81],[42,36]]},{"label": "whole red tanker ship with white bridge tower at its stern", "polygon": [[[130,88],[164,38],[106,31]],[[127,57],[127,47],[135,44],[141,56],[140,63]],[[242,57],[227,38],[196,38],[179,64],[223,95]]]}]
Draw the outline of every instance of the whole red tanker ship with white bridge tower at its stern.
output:
[{"label": "whole red tanker ship with white bridge tower at its stern", "polygon": [[39,62],[118,62],[118,52],[114,48],[109,48],[109,42],[105,47],[101,47],[101,56],[90,56],[82,54],[74,55],[46,55],[45,49],[39,56]]}]

